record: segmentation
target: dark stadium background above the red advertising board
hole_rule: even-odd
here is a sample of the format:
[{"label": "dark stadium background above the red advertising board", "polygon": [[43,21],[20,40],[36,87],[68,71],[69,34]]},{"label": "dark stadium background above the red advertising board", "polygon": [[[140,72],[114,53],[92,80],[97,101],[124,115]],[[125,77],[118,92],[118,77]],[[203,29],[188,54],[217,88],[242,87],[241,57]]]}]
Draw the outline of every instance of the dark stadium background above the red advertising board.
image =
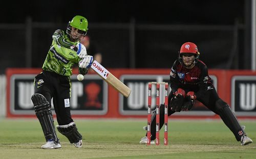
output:
[{"label": "dark stadium background above the red advertising board", "polygon": [[[75,15],[88,18],[88,35],[108,68],[169,68],[181,44],[191,41],[210,69],[250,69],[250,1],[6,3],[1,11],[0,73],[7,67],[41,67],[52,33],[66,30]],[[28,27],[32,42],[26,39]]]}]

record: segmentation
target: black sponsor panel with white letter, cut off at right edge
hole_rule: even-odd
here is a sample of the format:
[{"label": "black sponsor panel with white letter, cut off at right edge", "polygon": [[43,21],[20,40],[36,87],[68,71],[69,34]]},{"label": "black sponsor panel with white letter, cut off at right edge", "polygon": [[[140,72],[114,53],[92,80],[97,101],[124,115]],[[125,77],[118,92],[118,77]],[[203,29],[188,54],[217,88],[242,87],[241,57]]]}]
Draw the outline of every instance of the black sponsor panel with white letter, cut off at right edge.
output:
[{"label": "black sponsor panel with white letter, cut off at right edge", "polygon": [[256,76],[233,76],[231,108],[237,116],[256,116]]}]

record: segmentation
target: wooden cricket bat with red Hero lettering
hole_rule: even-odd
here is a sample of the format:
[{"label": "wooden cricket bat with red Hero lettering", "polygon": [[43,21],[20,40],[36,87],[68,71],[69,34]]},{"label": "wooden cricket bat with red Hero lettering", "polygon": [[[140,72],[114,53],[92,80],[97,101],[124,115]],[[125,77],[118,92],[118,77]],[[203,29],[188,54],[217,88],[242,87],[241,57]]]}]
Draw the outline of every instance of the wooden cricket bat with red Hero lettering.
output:
[{"label": "wooden cricket bat with red Hero lettering", "polygon": [[112,75],[108,70],[106,70],[99,62],[93,61],[91,68],[107,83],[112,85],[118,92],[120,92],[124,97],[129,97],[131,94],[131,89],[123,84],[119,79]]}]

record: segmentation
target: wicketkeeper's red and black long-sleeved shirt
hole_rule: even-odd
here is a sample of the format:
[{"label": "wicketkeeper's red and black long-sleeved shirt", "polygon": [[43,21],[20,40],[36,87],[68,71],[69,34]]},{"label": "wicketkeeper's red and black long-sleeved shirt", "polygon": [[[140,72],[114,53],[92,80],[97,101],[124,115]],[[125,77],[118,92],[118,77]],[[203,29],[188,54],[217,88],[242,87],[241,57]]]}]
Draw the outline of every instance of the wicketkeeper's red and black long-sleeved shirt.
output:
[{"label": "wicketkeeper's red and black long-sleeved shirt", "polygon": [[176,60],[170,70],[170,87],[173,92],[182,88],[185,92],[193,91],[197,98],[202,97],[214,85],[208,75],[207,66],[198,60],[193,69],[186,69],[179,60]]}]

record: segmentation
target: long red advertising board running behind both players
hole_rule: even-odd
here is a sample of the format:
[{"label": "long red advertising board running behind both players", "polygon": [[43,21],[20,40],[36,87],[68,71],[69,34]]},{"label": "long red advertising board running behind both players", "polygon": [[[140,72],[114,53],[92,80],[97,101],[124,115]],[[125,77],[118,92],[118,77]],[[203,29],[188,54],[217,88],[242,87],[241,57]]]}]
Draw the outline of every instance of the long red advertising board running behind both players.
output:
[{"label": "long red advertising board running behind both players", "polygon": [[[78,81],[74,70],[71,76],[71,111],[74,118],[146,118],[147,83],[169,82],[169,69],[109,69],[132,89],[128,98],[90,71],[83,81]],[[7,117],[36,118],[31,95],[34,76],[41,69],[8,69]],[[209,70],[217,92],[239,118],[256,119],[256,72]],[[152,103],[155,102],[154,87]],[[160,87],[160,92],[161,92]],[[170,90],[169,90],[170,91]],[[162,96],[163,97],[163,96]],[[163,102],[163,99],[160,99]],[[154,108],[154,104],[152,105]],[[54,114],[54,110],[52,110]],[[190,111],[177,112],[172,118],[219,118],[197,102]]]}]

